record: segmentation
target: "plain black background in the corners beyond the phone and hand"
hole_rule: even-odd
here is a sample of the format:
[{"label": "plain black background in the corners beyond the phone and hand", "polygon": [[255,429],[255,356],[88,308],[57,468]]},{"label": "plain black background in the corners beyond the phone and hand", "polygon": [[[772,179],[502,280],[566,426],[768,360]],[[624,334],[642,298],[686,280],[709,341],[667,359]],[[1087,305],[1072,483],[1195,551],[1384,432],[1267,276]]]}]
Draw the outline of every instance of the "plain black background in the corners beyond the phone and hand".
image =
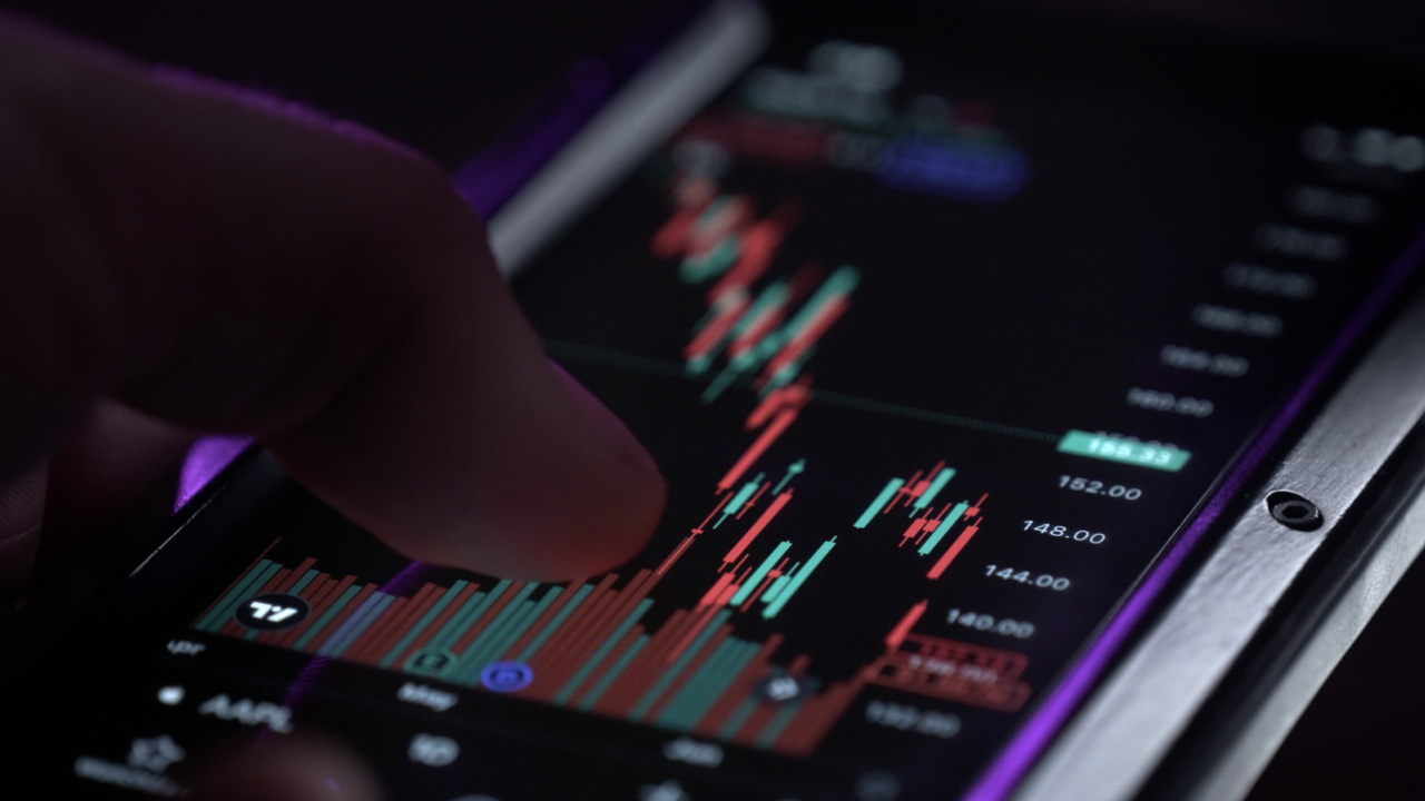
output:
[{"label": "plain black background in the corners beyond the phone and hand", "polygon": [[[1015,0],[1020,6],[1053,6]],[[1003,4],[1003,3],[1000,3]],[[1425,7],[1388,0],[1092,0],[1144,24],[1285,38],[1332,51],[1425,60]],[[410,6],[348,1],[19,1],[9,7],[140,58],[306,101],[416,144],[455,168],[567,80],[570,66],[628,41],[656,0],[522,0]],[[157,124],[161,124],[157,123]],[[1415,784],[1425,690],[1418,664],[1425,569],[1391,594],[1253,792],[1358,798]],[[1414,795],[1405,792],[1405,795]]]}]

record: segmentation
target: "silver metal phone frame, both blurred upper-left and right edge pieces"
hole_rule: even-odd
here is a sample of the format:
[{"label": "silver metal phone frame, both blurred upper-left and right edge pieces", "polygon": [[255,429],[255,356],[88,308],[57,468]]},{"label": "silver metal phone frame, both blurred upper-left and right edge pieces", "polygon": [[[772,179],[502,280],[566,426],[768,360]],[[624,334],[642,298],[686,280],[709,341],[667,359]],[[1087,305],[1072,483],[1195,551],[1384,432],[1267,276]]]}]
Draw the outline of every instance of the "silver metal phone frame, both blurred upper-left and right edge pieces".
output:
[{"label": "silver metal phone frame, both blurred upper-left and right edge pieces", "polygon": [[[560,229],[631,171],[762,50],[770,20],[758,6],[714,3],[657,63],[616,95],[490,221],[490,241],[513,277]],[[1208,703],[1312,556],[1342,536],[1342,517],[1425,416],[1425,295],[1359,362],[1245,512],[1166,611],[1103,678],[1017,784],[1016,801],[1129,800]],[[1292,530],[1267,512],[1268,492],[1312,499],[1324,524]],[[1425,547],[1425,499],[1348,582],[1325,624],[1281,681],[1260,693],[1248,723],[1201,765],[1184,795],[1240,798],[1265,767],[1331,668],[1405,567]]]}]

